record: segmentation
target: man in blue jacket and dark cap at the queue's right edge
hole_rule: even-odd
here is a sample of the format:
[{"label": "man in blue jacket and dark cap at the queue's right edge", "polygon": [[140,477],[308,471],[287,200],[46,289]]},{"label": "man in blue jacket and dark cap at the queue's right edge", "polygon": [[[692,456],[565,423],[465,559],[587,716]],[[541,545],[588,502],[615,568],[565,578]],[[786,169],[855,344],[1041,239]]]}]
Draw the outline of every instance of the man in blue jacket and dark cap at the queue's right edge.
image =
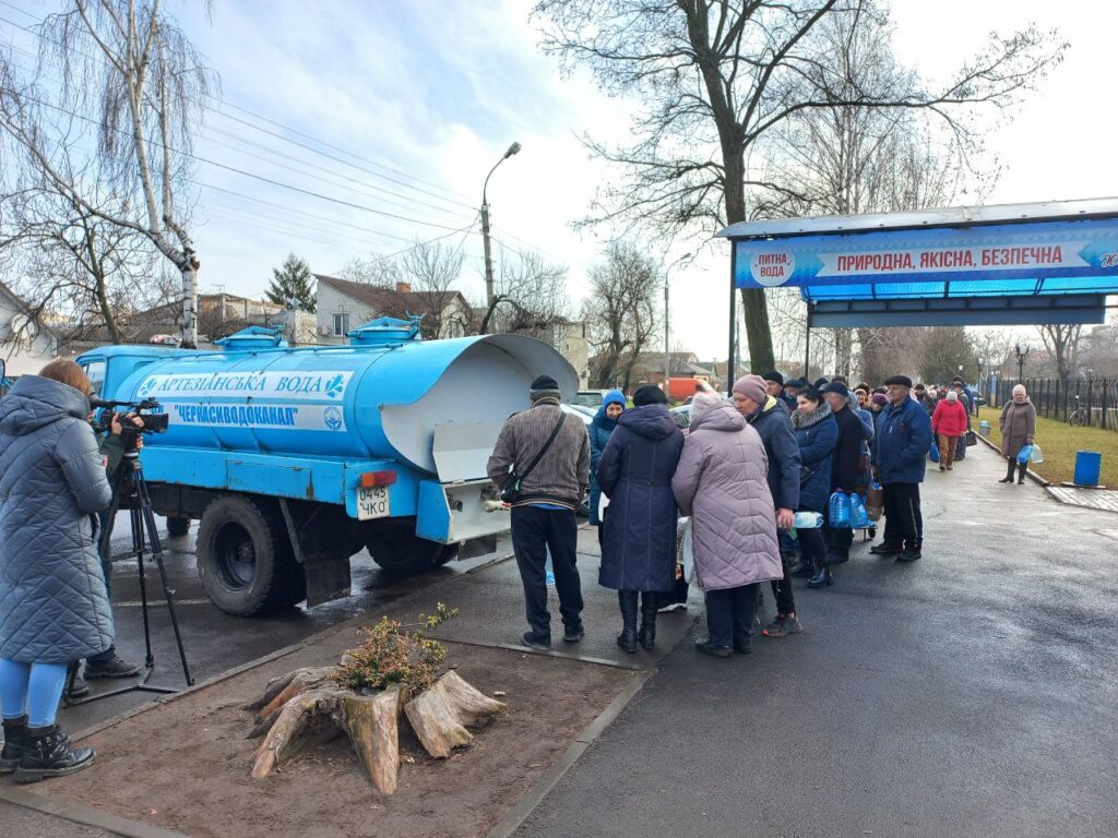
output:
[{"label": "man in blue jacket and dark cap at the queue's right edge", "polygon": [[920,484],[931,448],[931,419],[909,394],[911,388],[907,375],[885,381],[889,406],[878,417],[873,437],[873,465],[884,491],[885,534],[870,552],[896,555],[899,562],[916,561],[923,547]]}]

